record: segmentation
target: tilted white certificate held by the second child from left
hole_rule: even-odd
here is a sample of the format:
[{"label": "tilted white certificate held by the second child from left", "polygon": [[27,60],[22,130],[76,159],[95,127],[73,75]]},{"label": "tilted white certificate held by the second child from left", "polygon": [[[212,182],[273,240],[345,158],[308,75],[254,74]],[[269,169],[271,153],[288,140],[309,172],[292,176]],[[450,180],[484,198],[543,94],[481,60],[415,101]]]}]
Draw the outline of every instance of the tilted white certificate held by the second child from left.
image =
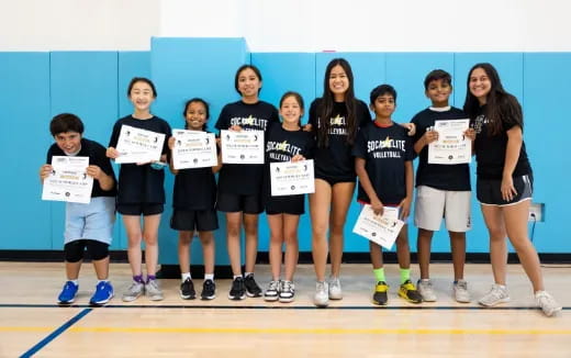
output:
[{"label": "tilted white certificate held by the second child from left", "polygon": [[160,160],[165,134],[123,124],[119,134],[115,163],[148,163]]}]

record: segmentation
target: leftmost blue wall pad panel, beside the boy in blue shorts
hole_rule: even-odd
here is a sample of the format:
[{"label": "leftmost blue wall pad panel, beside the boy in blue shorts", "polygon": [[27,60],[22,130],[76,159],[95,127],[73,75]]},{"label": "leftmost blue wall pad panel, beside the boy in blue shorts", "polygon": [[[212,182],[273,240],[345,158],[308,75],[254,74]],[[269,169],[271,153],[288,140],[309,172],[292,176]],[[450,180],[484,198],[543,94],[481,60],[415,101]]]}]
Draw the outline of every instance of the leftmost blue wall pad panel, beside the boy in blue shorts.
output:
[{"label": "leftmost blue wall pad panel, beside the boy in blue shorts", "polygon": [[51,249],[52,206],[37,176],[51,144],[49,54],[0,53],[0,249]]}]

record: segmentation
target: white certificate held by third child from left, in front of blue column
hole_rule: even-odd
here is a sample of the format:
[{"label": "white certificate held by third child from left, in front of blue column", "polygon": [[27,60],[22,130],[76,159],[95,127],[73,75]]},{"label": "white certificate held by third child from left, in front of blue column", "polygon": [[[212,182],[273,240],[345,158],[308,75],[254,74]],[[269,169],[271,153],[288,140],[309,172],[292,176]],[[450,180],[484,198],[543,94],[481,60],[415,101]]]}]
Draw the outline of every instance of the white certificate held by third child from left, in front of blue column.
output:
[{"label": "white certificate held by third child from left, in front of blue column", "polygon": [[175,169],[215,167],[219,164],[213,133],[173,130],[172,136],[175,137],[172,148]]}]

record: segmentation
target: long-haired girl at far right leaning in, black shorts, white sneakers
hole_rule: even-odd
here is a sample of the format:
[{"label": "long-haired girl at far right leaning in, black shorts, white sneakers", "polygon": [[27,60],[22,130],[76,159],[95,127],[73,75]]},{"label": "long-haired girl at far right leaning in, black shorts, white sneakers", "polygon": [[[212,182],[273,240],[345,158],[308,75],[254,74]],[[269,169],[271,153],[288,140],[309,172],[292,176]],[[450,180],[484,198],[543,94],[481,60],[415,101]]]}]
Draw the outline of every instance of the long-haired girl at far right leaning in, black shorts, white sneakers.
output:
[{"label": "long-haired girl at far right leaning in, black shorts, white sneakers", "polygon": [[490,232],[490,258],[495,283],[480,299],[493,306],[510,301],[505,287],[506,234],[534,287],[537,304],[548,316],[561,311],[545,291],[539,257],[527,235],[533,177],[523,141],[522,107],[507,93],[490,64],[474,65],[468,75],[463,110],[477,132],[477,195]]}]

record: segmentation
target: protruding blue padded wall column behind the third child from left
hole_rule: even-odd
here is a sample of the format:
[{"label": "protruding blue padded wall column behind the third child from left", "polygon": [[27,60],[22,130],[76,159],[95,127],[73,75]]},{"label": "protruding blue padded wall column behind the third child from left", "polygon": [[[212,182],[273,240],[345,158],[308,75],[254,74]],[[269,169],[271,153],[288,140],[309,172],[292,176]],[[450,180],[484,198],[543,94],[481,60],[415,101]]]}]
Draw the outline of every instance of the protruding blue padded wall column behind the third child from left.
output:
[{"label": "protruding blue padded wall column behind the third child from left", "polygon": [[[201,97],[211,104],[209,128],[214,128],[222,107],[239,99],[234,89],[234,75],[239,66],[249,61],[250,54],[243,38],[153,38],[152,77],[159,94],[153,112],[168,121],[172,128],[183,128],[186,100]],[[167,203],[159,230],[161,264],[178,264],[178,233],[169,225],[172,183],[173,176],[167,175]],[[220,228],[215,232],[216,265],[228,262],[223,216],[219,213]],[[244,249],[242,254],[244,256]],[[191,262],[202,264],[198,238],[191,247]]]}]

